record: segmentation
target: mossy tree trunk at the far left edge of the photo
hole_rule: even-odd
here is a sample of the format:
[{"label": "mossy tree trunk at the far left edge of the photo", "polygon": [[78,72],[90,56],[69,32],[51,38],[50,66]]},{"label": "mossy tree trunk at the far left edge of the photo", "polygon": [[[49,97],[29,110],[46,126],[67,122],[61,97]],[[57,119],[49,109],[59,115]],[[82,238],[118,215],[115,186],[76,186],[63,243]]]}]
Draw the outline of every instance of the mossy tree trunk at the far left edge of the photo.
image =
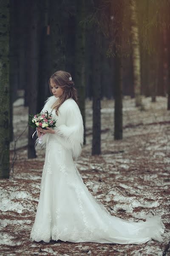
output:
[{"label": "mossy tree trunk at the far left edge of the photo", "polygon": [[9,178],[9,1],[0,1],[0,178]]}]

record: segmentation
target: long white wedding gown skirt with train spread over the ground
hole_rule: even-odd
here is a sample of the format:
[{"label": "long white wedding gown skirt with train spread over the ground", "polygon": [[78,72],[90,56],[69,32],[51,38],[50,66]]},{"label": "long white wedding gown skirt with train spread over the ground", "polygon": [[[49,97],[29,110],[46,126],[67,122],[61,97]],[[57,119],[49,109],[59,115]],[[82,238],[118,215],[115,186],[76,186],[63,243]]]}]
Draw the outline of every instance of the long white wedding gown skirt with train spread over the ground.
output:
[{"label": "long white wedding gown skirt with train spread over the ground", "polygon": [[49,134],[31,241],[142,244],[163,241],[164,228],[159,215],[138,222],[112,216],[85,186],[71,151]]}]

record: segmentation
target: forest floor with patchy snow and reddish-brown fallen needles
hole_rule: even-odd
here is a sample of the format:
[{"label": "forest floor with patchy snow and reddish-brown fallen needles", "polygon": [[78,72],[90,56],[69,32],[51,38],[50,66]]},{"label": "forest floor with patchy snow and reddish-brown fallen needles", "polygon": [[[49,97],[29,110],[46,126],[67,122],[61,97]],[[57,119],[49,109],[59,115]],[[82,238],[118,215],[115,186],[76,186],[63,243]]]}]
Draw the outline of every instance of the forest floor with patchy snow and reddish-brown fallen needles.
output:
[{"label": "forest floor with patchy snow and reddish-brown fallen needles", "polygon": [[[17,141],[17,160],[10,179],[0,180],[0,255],[57,256],[162,256],[170,255],[170,111],[167,99],[156,103],[144,98],[145,110],[135,108],[134,99],[123,100],[123,140],[113,140],[113,100],[102,100],[102,154],[91,156],[92,102],[86,102],[87,143],[76,161],[77,169],[92,195],[115,215],[126,220],[143,214],[161,215],[166,227],[164,241],[140,245],[31,242],[45,151],[27,158],[26,132]],[[23,100],[14,104],[14,133],[25,129],[28,108]],[[11,164],[14,156],[11,143]],[[169,254],[168,254],[169,253]]]}]

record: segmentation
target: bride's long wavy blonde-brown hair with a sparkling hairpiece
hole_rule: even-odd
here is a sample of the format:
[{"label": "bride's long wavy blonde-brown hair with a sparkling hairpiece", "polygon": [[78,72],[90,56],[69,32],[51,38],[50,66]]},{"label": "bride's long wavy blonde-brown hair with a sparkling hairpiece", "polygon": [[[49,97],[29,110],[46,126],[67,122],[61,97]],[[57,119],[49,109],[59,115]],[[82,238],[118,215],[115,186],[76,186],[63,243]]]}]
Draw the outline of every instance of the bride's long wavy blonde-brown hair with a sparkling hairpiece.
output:
[{"label": "bride's long wavy blonde-brown hair with a sparkling hairpiece", "polygon": [[59,70],[55,72],[48,80],[51,94],[53,94],[51,91],[51,84],[50,84],[51,80],[55,85],[63,88],[63,93],[62,93],[62,96],[60,97],[60,103],[59,105],[53,108],[56,110],[57,116],[58,116],[59,107],[62,105],[62,103],[66,99],[72,98],[78,104],[77,89],[74,87],[74,81],[72,79],[70,80],[69,77],[71,77],[70,73],[63,70]]}]

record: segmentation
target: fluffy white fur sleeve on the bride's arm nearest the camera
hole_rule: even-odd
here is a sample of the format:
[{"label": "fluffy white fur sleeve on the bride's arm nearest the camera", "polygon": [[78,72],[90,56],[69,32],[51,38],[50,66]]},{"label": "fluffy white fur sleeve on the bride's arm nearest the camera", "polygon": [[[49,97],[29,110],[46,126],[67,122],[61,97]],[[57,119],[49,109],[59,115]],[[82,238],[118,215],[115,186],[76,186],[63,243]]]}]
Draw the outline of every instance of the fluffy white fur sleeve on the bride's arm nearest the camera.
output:
[{"label": "fluffy white fur sleeve on the bride's arm nearest the camera", "polygon": [[84,141],[82,115],[73,99],[63,104],[65,105],[62,114],[65,115],[66,122],[55,128],[55,136],[66,148],[71,149],[73,157],[77,158],[81,154]]}]

